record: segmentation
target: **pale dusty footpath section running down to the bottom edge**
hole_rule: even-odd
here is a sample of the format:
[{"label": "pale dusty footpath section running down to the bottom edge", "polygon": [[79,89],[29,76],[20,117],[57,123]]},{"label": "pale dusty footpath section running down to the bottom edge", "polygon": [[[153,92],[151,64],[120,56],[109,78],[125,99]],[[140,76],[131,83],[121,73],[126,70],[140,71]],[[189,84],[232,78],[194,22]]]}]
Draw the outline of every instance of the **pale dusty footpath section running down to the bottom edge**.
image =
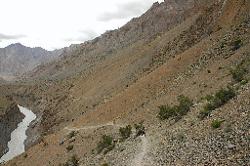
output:
[{"label": "pale dusty footpath section running down to the bottom edge", "polygon": [[145,166],[145,156],[149,151],[149,141],[145,135],[140,136],[141,138],[141,149],[139,153],[133,159],[131,166]]}]

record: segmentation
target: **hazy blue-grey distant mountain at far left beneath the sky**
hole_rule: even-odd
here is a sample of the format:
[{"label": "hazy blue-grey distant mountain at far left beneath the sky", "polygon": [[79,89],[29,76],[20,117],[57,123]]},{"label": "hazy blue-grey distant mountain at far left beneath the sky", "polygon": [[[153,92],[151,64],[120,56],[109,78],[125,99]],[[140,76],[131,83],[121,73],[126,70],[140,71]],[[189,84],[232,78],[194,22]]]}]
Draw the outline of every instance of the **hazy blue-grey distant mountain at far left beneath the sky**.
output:
[{"label": "hazy blue-grey distant mountain at far left beneath the sky", "polygon": [[41,63],[55,59],[60,53],[61,50],[47,51],[40,47],[26,47],[20,43],[0,48],[0,76],[22,74]]}]

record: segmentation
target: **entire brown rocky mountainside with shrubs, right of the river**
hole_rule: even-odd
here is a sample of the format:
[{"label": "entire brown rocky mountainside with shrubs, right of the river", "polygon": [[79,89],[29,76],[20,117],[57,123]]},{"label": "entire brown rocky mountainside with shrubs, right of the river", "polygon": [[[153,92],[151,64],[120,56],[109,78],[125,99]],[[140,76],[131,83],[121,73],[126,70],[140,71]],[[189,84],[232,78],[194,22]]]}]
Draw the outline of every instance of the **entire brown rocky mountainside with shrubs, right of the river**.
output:
[{"label": "entire brown rocky mountainside with shrubs, right of the river", "polygon": [[6,165],[249,165],[249,66],[249,1],[155,3],[0,86],[41,135]]}]

